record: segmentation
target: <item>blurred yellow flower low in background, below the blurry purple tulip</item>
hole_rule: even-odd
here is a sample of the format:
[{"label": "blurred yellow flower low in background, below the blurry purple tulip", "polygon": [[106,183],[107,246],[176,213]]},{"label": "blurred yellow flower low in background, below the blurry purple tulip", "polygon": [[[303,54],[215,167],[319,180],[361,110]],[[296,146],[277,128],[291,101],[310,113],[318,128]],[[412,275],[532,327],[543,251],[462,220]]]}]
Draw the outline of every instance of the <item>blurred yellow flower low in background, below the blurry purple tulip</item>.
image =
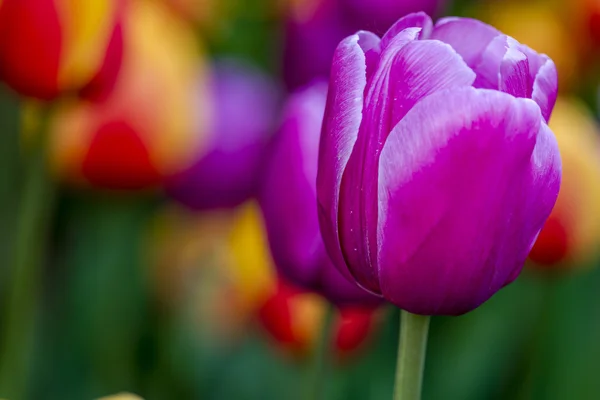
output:
[{"label": "blurred yellow flower low in background, below the blurry purple tulip", "polygon": [[222,341],[243,336],[275,290],[258,206],[231,212],[163,212],[148,249],[159,298],[175,312],[190,309],[198,328]]}]

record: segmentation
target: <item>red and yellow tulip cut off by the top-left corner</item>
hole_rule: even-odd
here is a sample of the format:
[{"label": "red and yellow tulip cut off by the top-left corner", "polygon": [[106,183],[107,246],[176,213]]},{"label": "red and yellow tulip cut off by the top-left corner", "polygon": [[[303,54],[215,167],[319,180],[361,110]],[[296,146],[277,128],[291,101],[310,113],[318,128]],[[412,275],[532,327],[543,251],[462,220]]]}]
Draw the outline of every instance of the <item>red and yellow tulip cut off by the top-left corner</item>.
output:
[{"label": "red and yellow tulip cut off by the top-left corner", "polygon": [[22,95],[103,96],[123,51],[125,0],[3,0],[0,79]]}]

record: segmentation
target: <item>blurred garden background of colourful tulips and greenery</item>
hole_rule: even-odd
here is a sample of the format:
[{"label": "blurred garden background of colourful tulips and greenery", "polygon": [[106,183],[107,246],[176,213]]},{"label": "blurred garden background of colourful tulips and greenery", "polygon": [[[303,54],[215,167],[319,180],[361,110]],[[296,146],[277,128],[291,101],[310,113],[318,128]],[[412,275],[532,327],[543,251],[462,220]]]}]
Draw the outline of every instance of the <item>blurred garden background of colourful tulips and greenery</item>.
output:
[{"label": "blurred garden background of colourful tulips and greenery", "polygon": [[[421,9],[553,58],[565,169],[521,277],[433,318],[424,398],[600,398],[595,0],[1,1],[0,397],[303,397],[330,306],[277,276],[257,188],[339,40]],[[391,398],[398,320],[335,309],[324,398]]]}]

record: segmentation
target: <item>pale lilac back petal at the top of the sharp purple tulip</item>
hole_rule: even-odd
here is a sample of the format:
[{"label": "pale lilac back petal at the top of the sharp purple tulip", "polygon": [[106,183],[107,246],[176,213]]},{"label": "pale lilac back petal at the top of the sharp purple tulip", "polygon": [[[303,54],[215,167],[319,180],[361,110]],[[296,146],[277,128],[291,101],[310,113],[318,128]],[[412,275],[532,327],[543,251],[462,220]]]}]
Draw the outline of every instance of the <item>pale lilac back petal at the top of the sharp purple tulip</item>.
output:
[{"label": "pale lilac back petal at the top of the sharp purple tulip", "polygon": [[440,19],[433,28],[431,39],[448,43],[473,67],[492,39],[500,32],[488,24],[470,18],[448,17]]}]

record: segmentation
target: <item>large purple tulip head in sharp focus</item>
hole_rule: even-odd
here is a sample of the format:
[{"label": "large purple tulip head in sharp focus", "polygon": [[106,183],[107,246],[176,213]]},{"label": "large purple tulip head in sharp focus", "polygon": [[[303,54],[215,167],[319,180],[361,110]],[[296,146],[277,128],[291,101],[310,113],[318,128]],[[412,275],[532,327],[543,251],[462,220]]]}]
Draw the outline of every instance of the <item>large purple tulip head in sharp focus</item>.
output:
[{"label": "large purple tulip head in sharp focus", "polygon": [[349,279],[416,314],[473,310],[520,273],[558,195],[554,63],[423,14],[336,49],[317,195]]}]

